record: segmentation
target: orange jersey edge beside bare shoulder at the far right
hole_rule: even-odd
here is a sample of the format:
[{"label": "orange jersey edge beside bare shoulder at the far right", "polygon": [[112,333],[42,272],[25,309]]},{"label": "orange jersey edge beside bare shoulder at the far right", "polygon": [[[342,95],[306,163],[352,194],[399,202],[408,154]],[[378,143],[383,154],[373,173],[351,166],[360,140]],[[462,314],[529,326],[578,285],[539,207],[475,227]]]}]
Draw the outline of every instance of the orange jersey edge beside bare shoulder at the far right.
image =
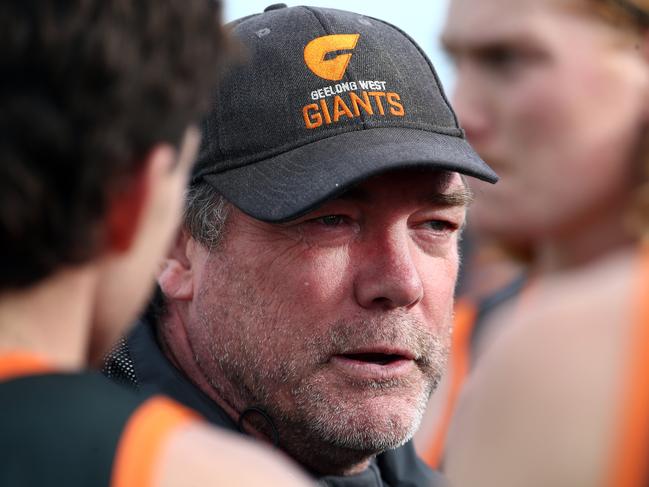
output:
[{"label": "orange jersey edge beside bare shoulder at the far right", "polygon": [[621,424],[606,483],[609,487],[644,486],[649,473],[649,245],[643,249],[639,269]]}]

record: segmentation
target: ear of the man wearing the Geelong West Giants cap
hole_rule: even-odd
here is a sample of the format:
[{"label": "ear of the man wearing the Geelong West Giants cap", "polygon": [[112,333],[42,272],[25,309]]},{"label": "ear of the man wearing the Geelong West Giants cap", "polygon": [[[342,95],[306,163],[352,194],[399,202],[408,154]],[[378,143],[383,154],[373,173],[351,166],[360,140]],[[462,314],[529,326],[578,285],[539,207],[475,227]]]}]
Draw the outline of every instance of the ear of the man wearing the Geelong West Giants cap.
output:
[{"label": "ear of the man wearing the Geelong West Giants cap", "polygon": [[194,296],[192,262],[188,255],[190,240],[181,228],[158,274],[160,289],[168,298],[190,301]]}]

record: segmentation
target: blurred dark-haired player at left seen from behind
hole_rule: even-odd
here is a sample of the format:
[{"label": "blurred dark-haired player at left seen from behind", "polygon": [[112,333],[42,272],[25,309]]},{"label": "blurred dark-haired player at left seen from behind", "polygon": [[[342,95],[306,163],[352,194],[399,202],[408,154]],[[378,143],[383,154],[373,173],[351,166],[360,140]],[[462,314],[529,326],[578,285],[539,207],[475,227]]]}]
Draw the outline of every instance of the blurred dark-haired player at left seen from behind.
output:
[{"label": "blurred dark-haired player at left seen from behind", "polygon": [[0,4],[1,485],[302,485],[88,370],[146,301],[180,217],[219,15],[205,0]]}]

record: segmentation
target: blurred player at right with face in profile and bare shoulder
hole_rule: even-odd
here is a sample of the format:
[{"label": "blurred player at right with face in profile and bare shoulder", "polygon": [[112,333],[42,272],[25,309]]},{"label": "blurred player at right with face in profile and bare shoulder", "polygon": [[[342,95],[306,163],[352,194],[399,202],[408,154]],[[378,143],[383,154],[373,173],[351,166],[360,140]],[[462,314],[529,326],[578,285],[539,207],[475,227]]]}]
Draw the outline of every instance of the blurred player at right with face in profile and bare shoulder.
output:
[{"label": "blurred player at right with face in profile and bare shoulder", "polygon": [[529,251],[447,443],[454,485],[646,485],[649,3],[452,0],[458,115],[502,176],[474,228]]}]

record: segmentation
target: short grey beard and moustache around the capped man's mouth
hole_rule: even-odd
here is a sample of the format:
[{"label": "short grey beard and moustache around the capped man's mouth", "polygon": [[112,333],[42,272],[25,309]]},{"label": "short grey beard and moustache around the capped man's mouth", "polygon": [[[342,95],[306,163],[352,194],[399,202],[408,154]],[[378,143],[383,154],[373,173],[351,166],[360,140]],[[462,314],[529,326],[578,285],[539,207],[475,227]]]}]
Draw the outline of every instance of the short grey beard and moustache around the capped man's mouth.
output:
[{"label": "short grey beard and moustache around the capped man's mouth", "polygon": [[[402,445],[419,426],[428,398],[439,382],[448,351],[448,336],[433,335],[421,323],[395,315],[390,319],[359,319],[352,323],[340,320],[330,325],[324,336],[303,337],[301,356],[269,361],[268,350],[260,353],[264,344],[281,343],[278,335],[294,333],[300,328],[283,323],[265,329],[263,335],[268,336],[259,336],[259,328],[247,330],[245,324],[238,325],[242,339],[236,340],[237,343],[212,341],[211,358],[240,393],[243,404],[260,406],[274,419],[280,443],[289,451],[299,450],[301,445],[296,443],[302,443],[309,449],[319,444],[325,449],[354,450],[371,455]],[[291,338],[295,340],[295,336]],[[314,373],[332,355],[373,341],[394,343],[413,351],[425,380],[423,383],[412,383],[409,378],[370,380],[355,385],[374,391],[377,397],[389,389],[418,387],[420,390],[413,395],[408,417],[404,418],[403,413],[397,411],[381,420],[368,418],[353,398],[334,402],[324,385],[312,380],[309,374],[303,375],[305,368],[312,368],[307,372]],[[220,388],[218,383],[213,386]],[[291,407],[278,401],[278,389],[282,386],[290,387]]]}]

